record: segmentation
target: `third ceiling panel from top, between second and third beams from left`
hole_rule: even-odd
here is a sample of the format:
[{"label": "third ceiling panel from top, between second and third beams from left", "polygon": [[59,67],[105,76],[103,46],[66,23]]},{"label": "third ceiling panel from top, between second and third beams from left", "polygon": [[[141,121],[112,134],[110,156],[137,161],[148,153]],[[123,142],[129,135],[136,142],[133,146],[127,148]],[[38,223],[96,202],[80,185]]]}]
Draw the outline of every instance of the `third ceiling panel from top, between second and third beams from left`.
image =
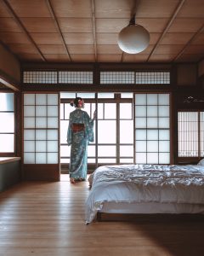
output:
[{"label": "third ceiling panel from top, between second and third beams from left", "polygon": [[94,44],[93,33],[63,33],[65,44]]}]

